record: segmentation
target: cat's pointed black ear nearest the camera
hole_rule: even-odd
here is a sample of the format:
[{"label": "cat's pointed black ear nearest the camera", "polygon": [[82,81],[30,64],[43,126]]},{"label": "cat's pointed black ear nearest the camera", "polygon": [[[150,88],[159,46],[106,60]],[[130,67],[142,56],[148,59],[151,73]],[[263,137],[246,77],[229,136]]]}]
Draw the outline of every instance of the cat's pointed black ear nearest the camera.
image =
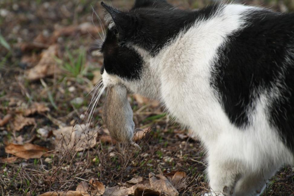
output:
[{"label": "cat's pointed black ear nearest the camera", "polygon": [[119,39],[123,40],[132,37],[132,34],[136,30],[137,16],[119,11],[116,8],[106,5],[104,2],[101,2],[101,5],[110,14],[116,29],[119,31]]}]

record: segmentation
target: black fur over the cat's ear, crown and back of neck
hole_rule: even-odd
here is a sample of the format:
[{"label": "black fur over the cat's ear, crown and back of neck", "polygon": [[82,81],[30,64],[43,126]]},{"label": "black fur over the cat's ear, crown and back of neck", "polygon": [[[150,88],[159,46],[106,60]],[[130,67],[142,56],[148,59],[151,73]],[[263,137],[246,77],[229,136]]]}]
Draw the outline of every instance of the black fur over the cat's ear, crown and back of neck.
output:
[{"label": "black fur over the cat's ear, crown and back of neck", "polygon": [[199,11],[181,10],[166,1],[137,1],[126,13],[111,8],[104,3],[119,31],[121,42],[139,45],[155,56],[172,38],[191,27],[196,20],[211,18],[221,9],[212,5]]}]

